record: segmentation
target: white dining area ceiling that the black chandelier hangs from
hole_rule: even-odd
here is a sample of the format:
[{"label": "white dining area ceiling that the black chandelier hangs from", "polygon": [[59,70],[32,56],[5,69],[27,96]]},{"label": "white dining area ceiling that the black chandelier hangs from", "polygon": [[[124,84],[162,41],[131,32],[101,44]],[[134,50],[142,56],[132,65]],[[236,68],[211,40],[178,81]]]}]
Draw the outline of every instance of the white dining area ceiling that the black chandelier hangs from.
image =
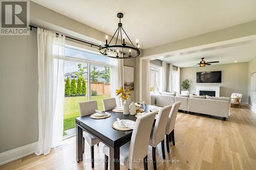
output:
[{"label": "white dining area ceiling that the black chandelier hangs from", "polygon": [[113,35],[116,14],[122,12],[123,28],[141,48],[220,30],[256,20],[255,0],[32,0]]}]

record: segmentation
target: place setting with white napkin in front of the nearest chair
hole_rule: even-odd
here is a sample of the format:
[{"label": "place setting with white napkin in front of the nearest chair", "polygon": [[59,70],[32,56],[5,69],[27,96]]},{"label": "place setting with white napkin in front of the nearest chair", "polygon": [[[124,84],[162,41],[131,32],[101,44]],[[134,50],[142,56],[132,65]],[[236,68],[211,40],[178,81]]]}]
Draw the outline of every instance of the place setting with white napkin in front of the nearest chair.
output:
[{"label": "place setting with white napkin in front of the nearest chair", "polygon": [[130,131],[135,127],[135,121],[130,119],[119,119],[112,124],[112,128],[118,131]]}]

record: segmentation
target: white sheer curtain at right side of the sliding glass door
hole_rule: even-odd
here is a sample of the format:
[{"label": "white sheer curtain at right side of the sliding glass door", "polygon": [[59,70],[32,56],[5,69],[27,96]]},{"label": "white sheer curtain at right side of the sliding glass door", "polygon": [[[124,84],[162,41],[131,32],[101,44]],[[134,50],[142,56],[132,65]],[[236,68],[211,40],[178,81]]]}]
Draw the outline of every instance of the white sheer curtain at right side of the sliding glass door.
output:
[{"label": "white sheer curtain at right side of the sliding glass door", "polygon": [[110,77],[110,87],[111,87],[111,98],[116,98],[117,106],[121,106],[121,102],[118,96],[116,96],[116,89],[123,86],[123,59],[111,58],[111,77]]}]

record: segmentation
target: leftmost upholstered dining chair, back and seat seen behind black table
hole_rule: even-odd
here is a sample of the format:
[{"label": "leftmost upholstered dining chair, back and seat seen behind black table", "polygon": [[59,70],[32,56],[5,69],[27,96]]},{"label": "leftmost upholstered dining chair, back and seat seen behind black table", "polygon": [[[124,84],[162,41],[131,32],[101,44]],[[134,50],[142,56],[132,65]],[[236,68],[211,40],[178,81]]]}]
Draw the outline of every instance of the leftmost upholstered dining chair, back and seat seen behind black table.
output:
[{"label": "leftmost upholstered dining chair, back and seat seen behind black table", "polygon": [[[96,101],[88,101],[88,102],[81,102],[79,103],[80,107],[80,116],[86,116],[95,113],[95,110],[98,109],[98,105]],[[84,139],[87,141],[87,143],[91,147],[91,159],[92,159],[92,168],[94,168],[94,145],[97,144],[99,145],[100,140],[90,133],[83,131],[82,132],[83,136],[83,152],[85,148],[85,142]]]}]

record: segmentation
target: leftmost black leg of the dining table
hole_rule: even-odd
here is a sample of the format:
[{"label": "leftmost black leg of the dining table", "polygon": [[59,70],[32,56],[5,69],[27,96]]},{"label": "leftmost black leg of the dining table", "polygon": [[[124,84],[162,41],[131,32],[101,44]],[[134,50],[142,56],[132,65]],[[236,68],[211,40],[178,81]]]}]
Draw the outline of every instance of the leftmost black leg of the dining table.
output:
[{"label": "leftmost black leg of the dining table", "polygon": [[82,158],[82,128],[76,125],[76,161],[83,161]]}]

